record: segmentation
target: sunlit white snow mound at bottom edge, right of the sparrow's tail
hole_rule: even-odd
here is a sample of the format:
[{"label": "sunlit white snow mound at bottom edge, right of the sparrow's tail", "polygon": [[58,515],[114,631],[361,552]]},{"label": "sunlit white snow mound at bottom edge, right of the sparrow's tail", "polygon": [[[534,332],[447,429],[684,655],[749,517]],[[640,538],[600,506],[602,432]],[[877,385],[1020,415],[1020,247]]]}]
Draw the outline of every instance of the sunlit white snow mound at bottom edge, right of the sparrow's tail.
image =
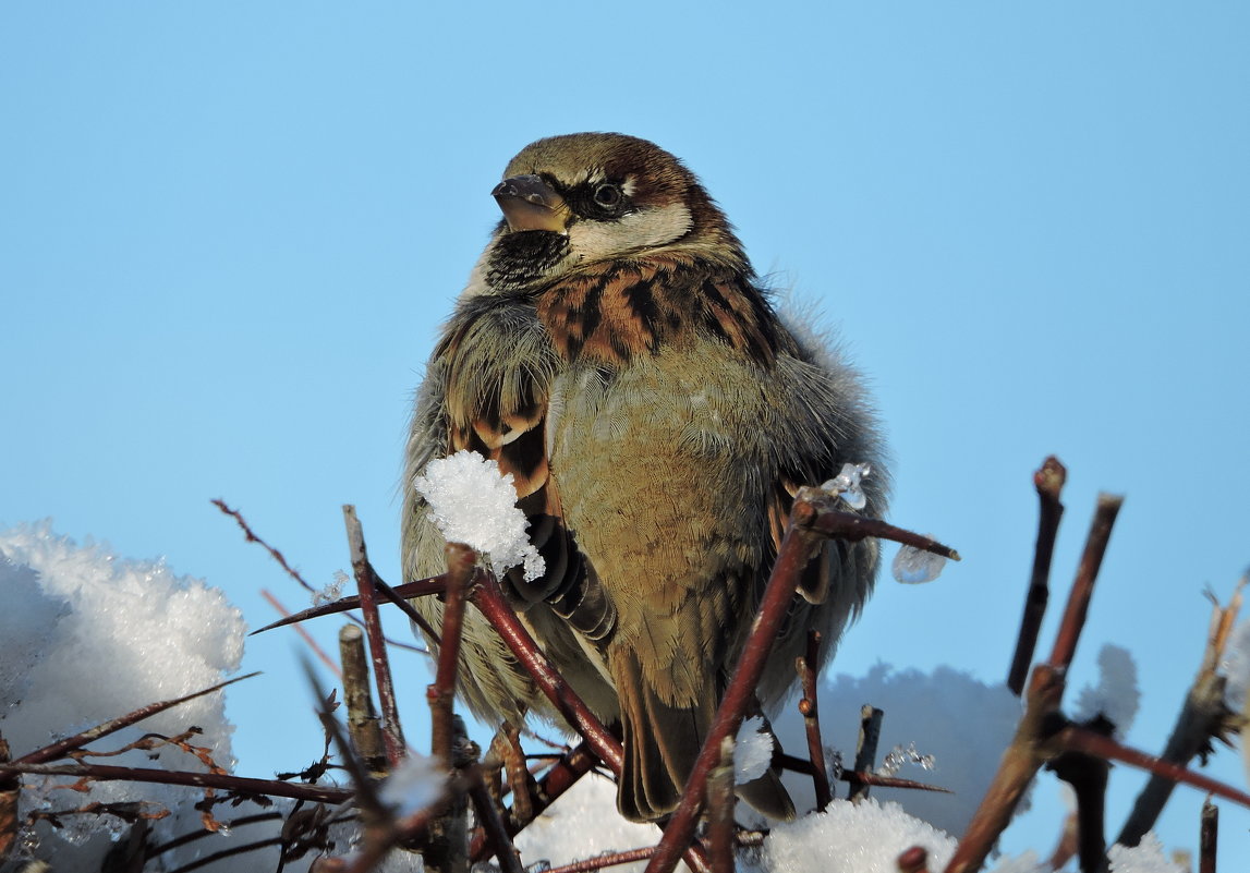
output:
[{"label": "sunlit white snow mound at bottom edge, right of the sparrow's tail", "polygon": [[955,850],[951,837],[896,803],[834,800],[822,813],[775,824],[761,860],[765,870],[786,873],[898,873],[895,862],[912,845],[929,850],[932,870]]}]

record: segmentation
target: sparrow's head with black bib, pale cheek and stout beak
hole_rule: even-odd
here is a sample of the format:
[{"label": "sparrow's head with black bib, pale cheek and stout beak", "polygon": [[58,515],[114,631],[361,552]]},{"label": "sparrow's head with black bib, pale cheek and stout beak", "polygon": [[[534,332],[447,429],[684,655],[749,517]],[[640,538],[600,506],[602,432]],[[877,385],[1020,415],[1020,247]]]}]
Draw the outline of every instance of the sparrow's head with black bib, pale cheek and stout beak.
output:
[{"label": "sparrow's head with black bib, pale cheek and stout beak", "polygon": [[690,170],[624,134],[569,134],[525,146],[491,191],[504,220],[485,284],[539,285],[604,260],[669,250],[750,269],[741,244]]}]

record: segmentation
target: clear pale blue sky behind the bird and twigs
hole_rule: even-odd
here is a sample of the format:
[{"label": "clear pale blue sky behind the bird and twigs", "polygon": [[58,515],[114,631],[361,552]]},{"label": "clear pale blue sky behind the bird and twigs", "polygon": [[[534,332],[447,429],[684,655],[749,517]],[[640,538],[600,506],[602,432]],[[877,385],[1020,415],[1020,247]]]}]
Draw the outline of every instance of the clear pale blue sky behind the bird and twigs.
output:
[{"label": "clear pale blue sky behind the bird and twigs", "polygon": [[[965,555],[882,580],[834,669],[1004,675],[1055,453],[1056,588],[1095,493],[1128,495],[1074,690],[1125,645],[1130,740],[1161,748],[1202,590],[1250,564],[1250,11],[445,6],[5,6],[0,524],[164,555],[259,627],[260,588],[306,599],[209,500],[316,584],[349,565],[350,502],[394,580],[409,396],[491,186],[539,136],[620,130],[682,156],[756,268],[819,304],[889,426],[892,520]],[[231,692],[250,774],[315,753],[296,648],[252,640],[266,674]],[[1229,753],[1216,772],[1242,778]],[[1118,828],[1136,780],[1114,782]],[[1165,842],[1196,842],[1199,802],[1178,794]],[[1221,835],[1248,822],[1226,807]]]}]

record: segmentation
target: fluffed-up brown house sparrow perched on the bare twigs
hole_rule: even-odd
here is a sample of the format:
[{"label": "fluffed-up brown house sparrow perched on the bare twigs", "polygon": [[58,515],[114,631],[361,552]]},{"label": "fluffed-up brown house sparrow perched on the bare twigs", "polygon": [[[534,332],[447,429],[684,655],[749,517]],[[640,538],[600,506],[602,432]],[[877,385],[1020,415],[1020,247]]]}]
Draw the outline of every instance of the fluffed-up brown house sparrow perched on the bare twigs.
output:
[{"label": "fluffed-up brown house sparrow perched on the bare twigs", "polygon": [[[656,145],[621,134],[542,139],[492,195],[504,213],[418,393],[408,443],[406,579],[442,572],[412,487],[469,449],[515,478],[545,574],[505,588],[625,765],[620,812],[670,813],[751,627],[792,495],[868,463],[864,513],[888,480],[860,379],[782,324],[724,214]],[[808,629],[826,659],[872,587],[878,545],[830,542],[806,569],[758,697],[794,684]],[[418,608],[439,627],[441,604]],[[474,610],[459,692],[478,718],[554,718]],[[775,770],[738,787],[794,814]]]}]

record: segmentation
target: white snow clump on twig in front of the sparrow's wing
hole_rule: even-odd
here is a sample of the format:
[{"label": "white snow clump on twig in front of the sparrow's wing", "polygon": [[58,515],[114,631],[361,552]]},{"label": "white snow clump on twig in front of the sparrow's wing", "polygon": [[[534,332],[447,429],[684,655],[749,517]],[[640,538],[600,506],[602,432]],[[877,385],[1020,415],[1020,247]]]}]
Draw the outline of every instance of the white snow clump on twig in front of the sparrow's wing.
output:
[{"label": "white snow clump on twig in front of the sparrow's wing", "polygon": [[490,560],[495,575],[525,565],[525,579],[546,570],[542,557],[525,534],[529,523],[516,508],[512,474],[475,452],[458,452],[431,460],[412,479],[430,505],[430,518],[449,543],[464,543]]}]

